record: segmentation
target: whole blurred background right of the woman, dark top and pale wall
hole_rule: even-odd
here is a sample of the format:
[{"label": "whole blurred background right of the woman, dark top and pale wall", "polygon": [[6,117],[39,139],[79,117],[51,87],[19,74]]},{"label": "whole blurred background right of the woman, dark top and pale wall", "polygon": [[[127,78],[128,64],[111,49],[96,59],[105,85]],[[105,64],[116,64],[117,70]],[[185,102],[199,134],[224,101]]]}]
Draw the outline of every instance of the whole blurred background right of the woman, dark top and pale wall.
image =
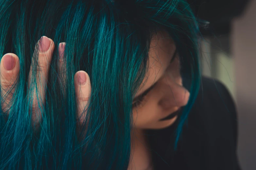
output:
[{"label": "whole blurred background right of the woman, dark top and pale wall", "polygon": [[[221,81],[237,108],[238,156],[256,170],[256,0],[187,0],[202,27],[202,74]],[[216,125],[217,126],[217,125]]]}]

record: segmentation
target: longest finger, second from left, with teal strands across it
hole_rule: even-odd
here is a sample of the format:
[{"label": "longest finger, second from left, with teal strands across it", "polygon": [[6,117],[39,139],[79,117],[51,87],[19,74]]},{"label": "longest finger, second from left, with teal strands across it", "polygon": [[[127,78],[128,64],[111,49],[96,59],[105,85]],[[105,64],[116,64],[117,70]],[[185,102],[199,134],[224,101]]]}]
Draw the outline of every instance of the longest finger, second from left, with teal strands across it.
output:
[{"label": "longest finger, second from left, with teal strands across it", "polygon": [[[50,63],[52,61],[52,55],[54,50],[54,42],[52,39],[43,36],[38,41],[39,54],[37,59],[36,50],[33,54],[29,76],[28,76],[28,87],[33,89],[33,103],[32,103],[32,125],[37,125],[42,119],[43,105],[45,104],[45,92],[48,81]],[[36,68],[36,83],[31,81],[32,72]],[[34,77],[33,77],[34,78]]]}]

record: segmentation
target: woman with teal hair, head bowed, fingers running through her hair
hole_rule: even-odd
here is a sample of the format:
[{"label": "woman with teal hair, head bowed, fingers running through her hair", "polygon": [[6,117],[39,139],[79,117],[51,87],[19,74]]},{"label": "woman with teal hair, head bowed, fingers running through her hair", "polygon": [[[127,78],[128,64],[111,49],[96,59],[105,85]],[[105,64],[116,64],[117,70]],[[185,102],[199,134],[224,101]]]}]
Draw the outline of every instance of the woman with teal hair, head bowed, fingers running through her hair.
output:
[{"label": "woman with teal hair, head bowed, fingers running through her hair", "polygon": [[222,168],[177,165],[201,84],[185,1],[4,1],[0,19],[0,169]]}]

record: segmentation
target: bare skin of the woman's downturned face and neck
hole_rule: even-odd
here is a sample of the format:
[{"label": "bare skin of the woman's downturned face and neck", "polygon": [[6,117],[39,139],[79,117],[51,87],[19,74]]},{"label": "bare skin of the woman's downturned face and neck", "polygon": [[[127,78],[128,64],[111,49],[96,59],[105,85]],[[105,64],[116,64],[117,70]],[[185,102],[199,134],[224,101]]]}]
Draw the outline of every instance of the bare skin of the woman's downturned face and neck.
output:
[{"label": "bare skin of the woman's downturned face and neck", "polygon": [[179,58],[170,64],[176,46],[168,33],[158,32],[151,39],[149,48],[149,70],[145,83],[136,93],[139,96],[152,84],[155,87],[144,97],[142,104],[133,108],[134,131],[132,133],[131,158],[128,170],[152,170],[151,154],[146,141],[145,129],[162,129],[175,122],[160,119],[177,111],[188,102],[190,93],[182,85]]}]

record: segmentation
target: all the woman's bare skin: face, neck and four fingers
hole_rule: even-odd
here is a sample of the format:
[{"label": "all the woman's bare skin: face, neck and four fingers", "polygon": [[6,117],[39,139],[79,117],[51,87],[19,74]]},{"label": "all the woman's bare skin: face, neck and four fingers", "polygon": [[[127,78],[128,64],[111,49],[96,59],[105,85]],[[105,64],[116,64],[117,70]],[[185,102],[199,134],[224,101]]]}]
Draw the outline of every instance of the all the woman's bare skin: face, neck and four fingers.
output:
[{"label": "all the woman's bare skin: face, neck and four fingers", "polygon": [[[39,79],[36,82],[39,90],[38,97],[35,92],[33,95],[32,105],[32,122],[33,126],[39,124],[42,114],[40,107],[45,104],[45,87],[47,86],[48,73],[50,63],[52,60],[53,50],[55,48],[52,39],[43,37],[40,41],[43,48],[41,48],[38,58]],[[38,42],[39,43],[39,42]],[[48,50],[47,50],[48,49]],[[60,81],[65,83],[65,77],[61,68],[65,61],[62,55],[65,49],[65,43],[60,43],[59,49],[59,73]],[[149,49],[149,69],[147,71],[144,83],[141,84],[139,91],[135,97],[145,92],[155,82],[157,84],[144,97],[142,104],[132,108],[133,113],[133,129],[131,133],[131,156],[128,170],[152,170],[151,155],[148,144],[143,131],[145,129],[161,129],[170,126],[175,122],[177,117],[171,120],[159,121],[169,114],[177,111],[181,106],[185,106],[189,99],[189,92],[182,86],[182,79],[179,74],[179,60],[178,57],[170,64],[171,57],[174,54],[176,47],[172,39],[166,32],[159,32],[153,36]],[[33,61],[33,60],[32,60]],[[33,62],[32,62],[33,64]],[[62,65],[62,66],[61,66]],[[31,66],[32,67],[32,66]],[[8,110],[10,99],[15,92],[15,81],[19,77],[20,61],[19,57],[13,53],[5,54],[0,63],[0,81],[1,81],[1,96],[5,97],[5,102],[2,104],[4,111]],[[28,87],[34,86],[30,79],[32,70],[29,72]],[[44,85],[43,87],[41,85]],[[77,96],[77,119],[84,120],[82,112],[88,104],[90,94],[92,91],[91,82],[88,74],[85,71],[78,71],[74,78],[75,92]],[[11,92],[7,93],[11,89]],[[37,101],[37,99],[42,99]],[[38,105],[39,103],[39,105]],[[7,112],[7,114],[9,114]],[[82,123],[78,121],[79,124]]]}]

